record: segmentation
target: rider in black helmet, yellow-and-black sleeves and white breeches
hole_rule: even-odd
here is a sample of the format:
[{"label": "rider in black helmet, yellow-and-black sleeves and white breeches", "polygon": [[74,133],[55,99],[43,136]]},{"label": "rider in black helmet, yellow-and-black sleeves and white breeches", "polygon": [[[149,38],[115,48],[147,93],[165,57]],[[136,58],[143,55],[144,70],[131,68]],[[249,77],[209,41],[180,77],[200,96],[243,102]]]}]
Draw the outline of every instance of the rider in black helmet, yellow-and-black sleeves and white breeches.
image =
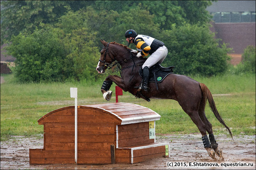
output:
[{"label": "rider in black helmet, yellow-and-black sleeves and white breeches", "polygon": [[138,35],[133,29],[127,30],[124,35],[126,41],[128,41],[129,44],[135,44],[135,47],[138,51],[132,49],[131,52],[137,53],[137,57],[145,57],[150,54],[145,63],[142,65],[144,82],[139,87],[139,90],[143,89],[145,91],[148,91],[149,68],[157,62],[161,64],[166,58],[168,50],[162,41],[159,41],[147,35]]}]

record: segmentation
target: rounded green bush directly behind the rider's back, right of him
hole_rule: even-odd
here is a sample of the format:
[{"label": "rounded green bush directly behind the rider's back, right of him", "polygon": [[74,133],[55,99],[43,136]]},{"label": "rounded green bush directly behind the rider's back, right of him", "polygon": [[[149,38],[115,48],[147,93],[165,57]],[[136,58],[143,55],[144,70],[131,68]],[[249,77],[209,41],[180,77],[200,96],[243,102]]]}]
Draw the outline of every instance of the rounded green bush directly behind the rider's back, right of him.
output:
[{"label": "rounded green bush directly behind the rider's back, right of him", "polygon": [[219,47],[218,39],[213,38],[207,25],[174,25],[162,36],[169,52],[163,65],[174,65],[176,74],[211,76],[226,71],[230,49],[226,44]]}]

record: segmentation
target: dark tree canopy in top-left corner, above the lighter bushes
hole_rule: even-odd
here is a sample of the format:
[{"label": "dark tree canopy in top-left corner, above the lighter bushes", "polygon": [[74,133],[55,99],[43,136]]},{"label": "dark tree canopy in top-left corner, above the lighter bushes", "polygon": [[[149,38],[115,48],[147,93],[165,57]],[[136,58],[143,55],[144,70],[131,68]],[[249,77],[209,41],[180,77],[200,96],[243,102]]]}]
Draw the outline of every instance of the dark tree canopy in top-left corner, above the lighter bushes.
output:
[{"label": "dark tree canopy in top-left corner, above the lighter bushes", "polygon": [[1,44],[12,35],[32,33],[40,23],[54,24],[67,9],[74,11],[95,1],[1,1]]}]

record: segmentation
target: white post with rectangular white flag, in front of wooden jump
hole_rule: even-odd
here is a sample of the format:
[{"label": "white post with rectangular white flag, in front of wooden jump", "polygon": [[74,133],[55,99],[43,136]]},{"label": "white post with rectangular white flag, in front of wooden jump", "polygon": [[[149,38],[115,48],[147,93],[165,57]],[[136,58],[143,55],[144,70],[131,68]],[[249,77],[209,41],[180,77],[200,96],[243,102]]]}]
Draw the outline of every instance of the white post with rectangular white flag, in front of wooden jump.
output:
[{"label": "white post with rectangular white flag, in front of wooden jump", "polygon": [[75,162],[77,163],[77,88],[70,87],[70,97],[75,98]]}]

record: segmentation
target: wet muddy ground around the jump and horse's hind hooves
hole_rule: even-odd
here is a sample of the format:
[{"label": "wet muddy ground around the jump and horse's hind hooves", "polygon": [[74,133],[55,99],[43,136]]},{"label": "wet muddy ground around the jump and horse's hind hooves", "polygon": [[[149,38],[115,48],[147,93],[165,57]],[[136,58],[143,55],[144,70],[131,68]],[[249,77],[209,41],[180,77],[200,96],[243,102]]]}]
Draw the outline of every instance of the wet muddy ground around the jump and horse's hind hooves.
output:
[{"label": "wet muddy ground around the jump and horse's hind hooves", "polygon": [[156,134],[156,142],[170,142],[169,158],[156,158],[134,164],[48,164],[30,165],[29,148],[43,148],[42,137],[15,136],[1,142],[1,169],[255,169],[255,135],[216,135],[224,160],[212,159],[203,148],[199,133]]}]

